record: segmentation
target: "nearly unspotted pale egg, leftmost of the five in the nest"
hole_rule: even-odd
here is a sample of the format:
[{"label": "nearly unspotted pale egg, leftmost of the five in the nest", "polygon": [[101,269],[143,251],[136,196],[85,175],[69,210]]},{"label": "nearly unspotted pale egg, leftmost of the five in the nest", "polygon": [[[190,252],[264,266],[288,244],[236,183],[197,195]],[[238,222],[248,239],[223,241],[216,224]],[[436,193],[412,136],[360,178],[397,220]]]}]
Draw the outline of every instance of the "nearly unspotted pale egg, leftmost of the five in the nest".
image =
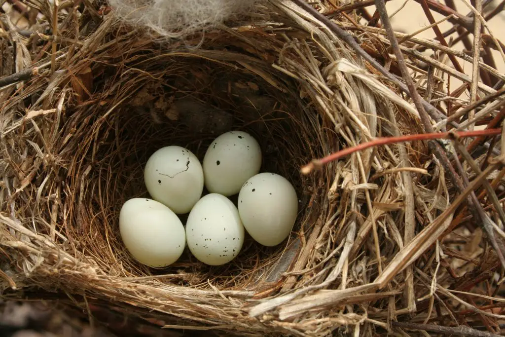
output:
[{"label": "nearly unspotted pale egg, leftmost of the five in the nest", "polygon": [[152,199],[133,198],[121,207],[119,231],[130,254],[150,267],[166,267],[181,256],[186,234],[181,220]]}]

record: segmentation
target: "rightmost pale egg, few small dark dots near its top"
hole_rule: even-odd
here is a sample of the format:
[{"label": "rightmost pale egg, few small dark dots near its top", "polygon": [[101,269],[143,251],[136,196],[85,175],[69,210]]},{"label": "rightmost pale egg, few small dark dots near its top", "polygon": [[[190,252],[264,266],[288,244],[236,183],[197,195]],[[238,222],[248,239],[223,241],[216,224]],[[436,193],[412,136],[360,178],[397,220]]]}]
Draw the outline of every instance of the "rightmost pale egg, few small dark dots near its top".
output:
[{"label": "rightmost pale egg, few small dark dots near its top", "polygon": [[276,246],[289,235],[296,221],[296,191],[283,176],[257,174],[240,189],[238,213],[245,230],[256,242]]}]

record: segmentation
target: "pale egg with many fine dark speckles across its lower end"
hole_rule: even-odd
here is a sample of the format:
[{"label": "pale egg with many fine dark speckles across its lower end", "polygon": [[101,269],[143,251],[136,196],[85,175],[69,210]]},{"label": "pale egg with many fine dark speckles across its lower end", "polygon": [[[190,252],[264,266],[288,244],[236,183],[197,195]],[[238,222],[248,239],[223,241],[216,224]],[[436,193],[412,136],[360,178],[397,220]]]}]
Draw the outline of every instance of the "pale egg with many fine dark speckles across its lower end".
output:
[{"label": "pale egg with many fine dark speckles across its lower end", "polygon": [[218,266],[233,260],[244,242],[238,210],[226,197],[212,193],[201,198],[186,221],[186,242],[199,261]]}]

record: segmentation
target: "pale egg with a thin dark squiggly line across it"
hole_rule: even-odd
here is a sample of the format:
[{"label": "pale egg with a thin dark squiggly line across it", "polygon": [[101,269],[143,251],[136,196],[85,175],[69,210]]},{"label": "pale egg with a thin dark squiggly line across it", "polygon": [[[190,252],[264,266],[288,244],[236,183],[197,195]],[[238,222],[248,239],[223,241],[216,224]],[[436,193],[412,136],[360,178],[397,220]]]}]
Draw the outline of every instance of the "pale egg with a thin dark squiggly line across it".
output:
[{"label": "pale egg with a thin dark squiggly line across it", "polygon": [[177,214],[184,214],[201,197],[204,171],[191,151],[168,146],[149,157],[144,169],[144,182],[154,200]]}]

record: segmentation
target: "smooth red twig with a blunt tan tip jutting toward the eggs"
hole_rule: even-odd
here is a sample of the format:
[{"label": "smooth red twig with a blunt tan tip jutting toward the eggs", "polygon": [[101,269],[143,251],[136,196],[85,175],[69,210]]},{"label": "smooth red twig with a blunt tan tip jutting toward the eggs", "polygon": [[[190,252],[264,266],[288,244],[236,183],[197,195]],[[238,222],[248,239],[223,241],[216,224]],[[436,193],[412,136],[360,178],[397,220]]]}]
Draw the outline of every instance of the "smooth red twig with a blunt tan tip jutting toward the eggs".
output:
[{"label": "smooth red twig with a blunt tan tip jutting toward the eggs", "polygon": [[449,132],[433,132],[433,133],[420,133],[420,134],[410,134],[403,135],[399,137],[383,137],[377,138],[371,141],[361,143],[357,146],[350,147],[337,151],[329,156],[321,159],[314,159],[309,164],[301,167],[301,172],[303,174],[308,174],[316,168],[321,168],[323,165],[335,161],[339,158],[350,155],[351,153],[366,150],[372,147],[387,145],[392,143],[398,143],[403,141],[416,141],[416,140],[431,140],[431,139],[450,139],[453,135],[457,135],[460,138],[464,137],[476,137],[476,136],[489,136],[497,135],[501,133],[501,129],[487,129],[487,130],[474,130],[474,131],[449,131]]}]

